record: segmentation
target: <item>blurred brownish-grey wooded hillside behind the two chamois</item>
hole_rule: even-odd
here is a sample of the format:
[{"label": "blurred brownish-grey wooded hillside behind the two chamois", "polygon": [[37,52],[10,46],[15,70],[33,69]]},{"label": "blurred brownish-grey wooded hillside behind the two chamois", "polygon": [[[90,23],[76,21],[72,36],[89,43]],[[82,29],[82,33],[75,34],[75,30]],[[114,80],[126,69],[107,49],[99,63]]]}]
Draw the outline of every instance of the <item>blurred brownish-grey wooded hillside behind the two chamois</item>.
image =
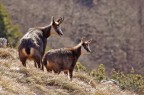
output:
[{"label": "blurred brownish-grey wooded hillside behind the two chamois", "polygon": [[51,36],[48,47],[71,47],[83,36],[92,38],[92,54],[80,58],[89,69],[104,64],[107,71],[144,75],[143,0],[1,0],[13,24],[23,33],[64,16],[63,37]]}]

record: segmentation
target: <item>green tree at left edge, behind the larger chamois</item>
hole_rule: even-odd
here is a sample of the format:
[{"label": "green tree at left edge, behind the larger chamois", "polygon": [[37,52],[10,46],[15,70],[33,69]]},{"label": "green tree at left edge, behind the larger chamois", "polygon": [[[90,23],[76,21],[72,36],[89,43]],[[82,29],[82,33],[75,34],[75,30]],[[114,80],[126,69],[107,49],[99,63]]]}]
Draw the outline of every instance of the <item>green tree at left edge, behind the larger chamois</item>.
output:
[{"label": "green tree at left edge, behind the larger chamois", "polygon": [[0,37],[6,38],[10,45],[16,46],[21,35],[18,25],[11,24],[7,10],[0,3]]}]

